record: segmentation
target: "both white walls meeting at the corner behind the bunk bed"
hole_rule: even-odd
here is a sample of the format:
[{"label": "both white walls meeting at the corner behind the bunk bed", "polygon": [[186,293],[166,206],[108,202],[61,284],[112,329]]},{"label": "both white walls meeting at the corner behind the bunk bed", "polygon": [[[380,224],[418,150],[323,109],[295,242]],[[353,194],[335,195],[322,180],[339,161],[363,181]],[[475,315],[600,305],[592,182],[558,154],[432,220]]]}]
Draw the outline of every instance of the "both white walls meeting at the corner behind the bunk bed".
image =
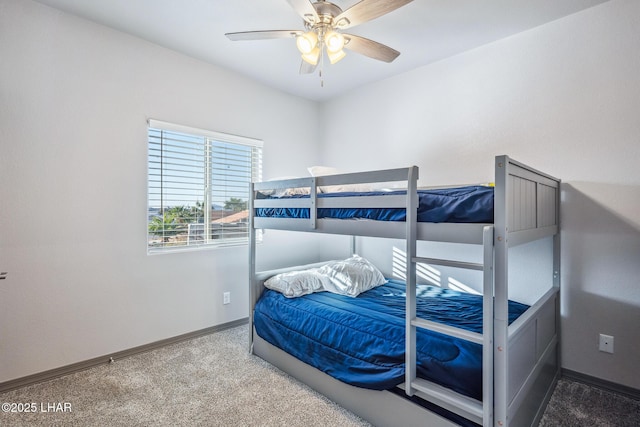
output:
[{"label": "both white walls meeting at the corner behind the bunk bed", "polygon": [[[318,106],[0,0],[0,382],[247,315],[246,248],[146,255],[151,117],[263,139],[265,178],[323,161],[486,182],[496,154],[558,176],[563,366],[640,388],[639,48],[640,3],[612,0]],[[278,234],[263,267],[316,255]]]}]

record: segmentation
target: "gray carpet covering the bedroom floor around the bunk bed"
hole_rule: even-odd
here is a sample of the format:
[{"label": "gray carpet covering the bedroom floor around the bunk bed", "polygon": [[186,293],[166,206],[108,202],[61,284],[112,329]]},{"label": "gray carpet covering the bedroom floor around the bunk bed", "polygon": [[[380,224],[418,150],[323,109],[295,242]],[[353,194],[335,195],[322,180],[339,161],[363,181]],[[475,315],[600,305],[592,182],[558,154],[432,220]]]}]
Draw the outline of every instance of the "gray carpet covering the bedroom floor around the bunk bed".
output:
[{"label": "gray carpet covering the bedroom floor around the bunk bed", "polygon": [[[22,412],[0,412],[0,426],[369,426],[248,354],[247,342],[240,326],[2,393]],[[562,380],[540,425],[638,420],[640,402]]]}]

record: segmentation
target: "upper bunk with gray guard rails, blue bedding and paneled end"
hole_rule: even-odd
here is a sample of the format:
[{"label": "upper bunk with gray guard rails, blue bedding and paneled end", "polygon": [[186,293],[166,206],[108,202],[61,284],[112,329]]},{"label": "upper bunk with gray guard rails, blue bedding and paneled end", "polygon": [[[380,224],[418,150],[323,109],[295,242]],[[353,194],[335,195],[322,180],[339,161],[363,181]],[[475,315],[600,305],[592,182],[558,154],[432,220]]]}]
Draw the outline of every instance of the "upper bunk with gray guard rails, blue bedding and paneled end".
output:
[{"label": "upper bunk with gray guard rails, blue bedding and paneled end", "polygon": [[[253,183],[250,220],[254,229],[397,239],[413,235],[414,226],[417,240],[471,244],[483,243],[485,226],[506,224],[509,246],[558,232],[560,181],[508,156],[495,158],[495,187],[419,189],[418,175],[418,167],[411,166]],[[404,189],[384,190],[389,183]],[[420,214],[423,203],[451,199],[440,197],[443,192],[472,198],[444,207],[455,210],[451,216]],[[474,212],[460,211],[466,208]],[[364,219],[372,217],[372,210],[387,213]],[[355,216],[327,217],[328,212],[347,211]],[[406,212],[415,213],[408,215],[410,224]]]}]

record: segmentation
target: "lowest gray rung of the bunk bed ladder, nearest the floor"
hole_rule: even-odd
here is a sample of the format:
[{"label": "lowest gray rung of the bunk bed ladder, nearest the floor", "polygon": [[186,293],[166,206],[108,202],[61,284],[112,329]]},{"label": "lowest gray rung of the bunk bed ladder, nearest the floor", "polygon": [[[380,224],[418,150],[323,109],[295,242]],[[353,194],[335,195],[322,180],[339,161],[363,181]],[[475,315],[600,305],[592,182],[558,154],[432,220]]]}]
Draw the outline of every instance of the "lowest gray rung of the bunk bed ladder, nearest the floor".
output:
[{"label": "lowest gray rung of the bunk bed ladder, nearest the floor", "polygon": [[423,394],[426,400],[482,425],[482,402],[420,378],[412,381],[411,387],[418,396]]}]

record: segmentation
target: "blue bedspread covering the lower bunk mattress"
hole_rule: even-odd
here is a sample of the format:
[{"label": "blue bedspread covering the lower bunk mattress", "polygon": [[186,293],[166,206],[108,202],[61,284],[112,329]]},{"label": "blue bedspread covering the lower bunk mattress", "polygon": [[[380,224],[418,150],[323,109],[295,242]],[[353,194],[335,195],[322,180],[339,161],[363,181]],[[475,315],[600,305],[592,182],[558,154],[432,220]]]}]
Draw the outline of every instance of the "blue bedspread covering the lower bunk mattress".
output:
[{"label": "blue bedspread covering the lower bunk mattress", "polygon": [[[418,316],[482,332],[482,297],[418,286]],[[510,302],[509,322],[528,306]],[[285,298],[266,290],[256,332],[269,343],[345,383],[374,390],[404,381],[405,285],[395,280],[351,298],[329,292]],[[482,347],[419,330],[418,376],[482,399]]]}]

